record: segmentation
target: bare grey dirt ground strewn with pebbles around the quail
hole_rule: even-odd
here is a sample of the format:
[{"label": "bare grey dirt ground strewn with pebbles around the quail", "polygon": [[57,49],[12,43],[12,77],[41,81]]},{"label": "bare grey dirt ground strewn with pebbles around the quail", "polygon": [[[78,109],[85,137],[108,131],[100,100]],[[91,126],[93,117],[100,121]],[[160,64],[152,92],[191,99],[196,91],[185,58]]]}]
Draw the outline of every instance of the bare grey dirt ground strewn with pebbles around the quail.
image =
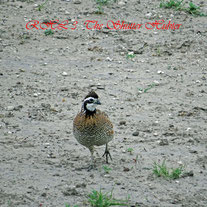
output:
[{"label": "bare grey dirt ground strewn with pebbles around the quail", "polygon": [[[92,0],[48,1],[38,11],[41,3],[0,1],[0,206],[84,207],[101,188],[130,196],[131,207],[206,207],[206,17],[159,8],[158,0],[110,3],[104,14]],[[207,13],[206,1],[194,3]],[[26,29],[30,20],[67,19],[69,29],[53,35]],[[182,26],[145,28],[160,19]],[[88,30],[86,20],[104,26]],[[109,30],[109,20],[143,25]],[[115,127],[108,174],[98,156],[97,169],[82,168],[90,153],[72,134],[91,89]],[[153,163],[163,160],[191,176],[156,177]]]}]

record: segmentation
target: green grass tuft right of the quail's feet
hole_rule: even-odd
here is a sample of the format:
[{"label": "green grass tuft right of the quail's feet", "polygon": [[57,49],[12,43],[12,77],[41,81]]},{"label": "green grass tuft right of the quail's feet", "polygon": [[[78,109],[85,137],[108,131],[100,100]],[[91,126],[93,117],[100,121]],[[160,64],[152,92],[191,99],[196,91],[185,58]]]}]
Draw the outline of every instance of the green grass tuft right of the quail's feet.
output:
[{"label": "green grass tuft right of the quail's feet", "polygon": [[177,179],[181,176],[182,173],[183,166],[180,166],[178,168],[171,168],[171,170],[169,170],[167,165],[165,164],[165,160],[162,162],[162,164],[154,162],[153,174],[155,174],[157,177],[164,177],[166,179]]}]

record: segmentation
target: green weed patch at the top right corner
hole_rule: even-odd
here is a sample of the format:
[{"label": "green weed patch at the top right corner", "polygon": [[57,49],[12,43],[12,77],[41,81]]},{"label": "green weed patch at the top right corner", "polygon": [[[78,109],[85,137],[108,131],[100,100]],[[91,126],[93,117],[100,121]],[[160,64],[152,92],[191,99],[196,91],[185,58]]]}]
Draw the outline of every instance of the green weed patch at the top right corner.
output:
[{"label": "green weed patch at the top right corner", "polygon": [[183,0],[179,1],[179,0],[170,0],[165,2],[164,0],[162,0],[162,2],[160,3],[160,8],[166,8],[166,9],[170,9],[173,8],[175,10],[180,10],[180,11],[184,11],[187,12],[191,15],[194,16],[207,16],[206,14],[202,13],[200,11],[200,7],[196,6],[194,3],[189,2],[188,7],[184,7],[184,3]]}]

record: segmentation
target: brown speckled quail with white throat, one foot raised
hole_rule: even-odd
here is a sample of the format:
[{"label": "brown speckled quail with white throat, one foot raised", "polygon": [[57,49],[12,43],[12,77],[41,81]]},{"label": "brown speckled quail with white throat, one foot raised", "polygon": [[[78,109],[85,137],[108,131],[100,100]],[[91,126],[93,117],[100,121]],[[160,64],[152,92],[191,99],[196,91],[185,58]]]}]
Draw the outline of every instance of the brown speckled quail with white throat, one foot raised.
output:
[{"label": "brown speckled quail with white throat, one foot raised", "polygon": [[[113,125],[108,116],[96,109],[100,105],[98,95],[91,91],[83,100],[81,112],[78,113],[73,121],[73,134],[77,141],[87,147],[91,152],[91,165],[94,167],[94,146],[106,145],[106,163],[111,154],[108,150],[108,142],[114,137]],[[112,158],[111,158],[112,160]]]}]

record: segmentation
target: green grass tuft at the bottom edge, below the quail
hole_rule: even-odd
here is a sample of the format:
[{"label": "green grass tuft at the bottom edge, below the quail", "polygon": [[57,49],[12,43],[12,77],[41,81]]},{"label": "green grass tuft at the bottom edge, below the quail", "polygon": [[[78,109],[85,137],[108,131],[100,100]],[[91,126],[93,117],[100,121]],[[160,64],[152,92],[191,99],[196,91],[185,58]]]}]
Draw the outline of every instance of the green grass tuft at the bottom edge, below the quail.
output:
[{"label": "green grass tuft at the bottom edge, below the quail", "polygon": [[92,207],[109,207],[109,206],[128,206],[127,200],[117,200],[113,198],[112,191],[108,193],[102,193],[100,191],[93,190],[92,193],[89,194],[89,203]]}]

